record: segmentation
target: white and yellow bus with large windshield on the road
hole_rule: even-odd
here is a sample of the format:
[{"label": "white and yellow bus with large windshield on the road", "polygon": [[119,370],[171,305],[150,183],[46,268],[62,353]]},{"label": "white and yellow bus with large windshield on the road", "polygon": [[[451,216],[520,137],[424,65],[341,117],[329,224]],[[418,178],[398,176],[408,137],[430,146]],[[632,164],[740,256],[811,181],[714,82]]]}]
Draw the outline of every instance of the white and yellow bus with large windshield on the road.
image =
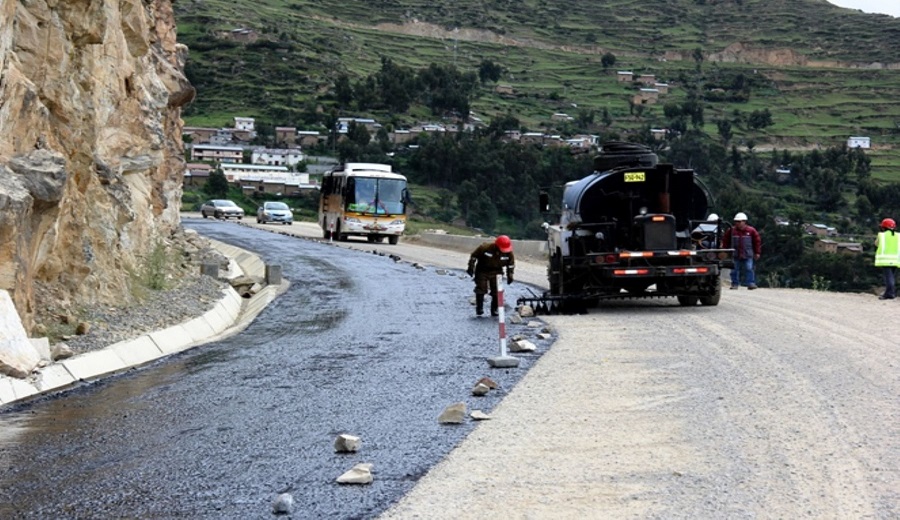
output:
[{"label": "white and yellow bus with large windshield on the road", "polygon": [[406,177],[390,165],[346,163],[322,178],[319,225],[325,238],[364,236],[391,244],[406,229]]}]

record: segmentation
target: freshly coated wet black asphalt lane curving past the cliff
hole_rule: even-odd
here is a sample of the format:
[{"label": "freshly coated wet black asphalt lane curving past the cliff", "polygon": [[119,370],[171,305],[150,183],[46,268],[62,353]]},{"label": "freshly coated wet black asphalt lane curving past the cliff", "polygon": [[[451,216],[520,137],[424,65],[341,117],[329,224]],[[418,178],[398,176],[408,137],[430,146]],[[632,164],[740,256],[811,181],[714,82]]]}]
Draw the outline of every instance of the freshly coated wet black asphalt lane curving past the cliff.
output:
[{"label": "freshly coated wet black asphalt lane curving past the cliff", "polygon": [[[475,427],[438,424],[446,406],[490,413],[549,346],[509,325],[538,351],[490,368],[498,326],[461,271],[187,227],[281,265],[290,289],[237,336],[0,414],[0,518],[267,518],[284,492],[293,518],[372,518]],[[472,396],[484,376],[500,388]],[[360,451],[335,453],[341,433]],[[372,484],[335,482],[358,463]]]}]

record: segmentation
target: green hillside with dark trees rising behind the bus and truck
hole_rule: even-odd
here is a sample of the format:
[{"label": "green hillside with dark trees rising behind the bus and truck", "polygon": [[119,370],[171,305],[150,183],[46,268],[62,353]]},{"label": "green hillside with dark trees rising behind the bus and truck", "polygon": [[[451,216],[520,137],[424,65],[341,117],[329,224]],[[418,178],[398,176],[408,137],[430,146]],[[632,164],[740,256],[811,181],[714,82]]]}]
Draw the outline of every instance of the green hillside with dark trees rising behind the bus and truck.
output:
[{"label": "green hillside with dark trees rising behind the bus and truck", "polygon": [[[778,273],[770,285],[868,283],[838,283],[834,273],[859,266],[808,254],[802,231],[776,228],[774,216],[865,234],[900,211],[900,19],[825,0],[203,0],[175,9],[198,91],[189,125],[251,116],[259,127],[327,131],[335,117],[361,116],[411,127],[452,111],[429,108],[433,91],[395,111],[359,92],[383,96],[423,71],[476,78],[466,106],[491,125],[487,134],[422,139],[395,158],[411,179],[442,190],[424,212],[441,222],[538,236],[542,217],[522,201],[589,167],[567,151],[492,141],[505,129],[641,142],[652,142],[650,129],[675,130],[660,144],[665,159],[707,175],[723,214],[746,210],[771,225],[767,241],[781,254],[764,259]],[[499,76],[478,80],[485,64]],[[619,81],[622,70],[653,74],[669,92],[638,105],[641,85]],[[552,117],[559,112],[573,121]],[[872,149],[841,150],[850,136],[871,137]],[[360,144],[352,157],[385,151]],[[787,180],[775,175],[782,165]]]}]

